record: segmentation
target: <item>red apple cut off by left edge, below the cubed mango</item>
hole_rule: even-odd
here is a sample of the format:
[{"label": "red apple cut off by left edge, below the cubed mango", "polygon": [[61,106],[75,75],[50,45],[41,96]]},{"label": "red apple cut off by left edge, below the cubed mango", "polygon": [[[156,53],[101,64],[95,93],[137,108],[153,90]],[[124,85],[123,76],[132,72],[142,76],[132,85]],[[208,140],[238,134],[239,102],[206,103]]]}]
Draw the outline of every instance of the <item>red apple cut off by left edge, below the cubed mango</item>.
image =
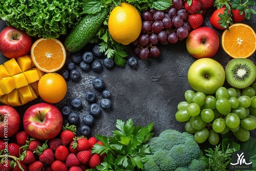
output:
[{"label": "red apple cut off by left edge, below the cubed mango", "polygon": [[0,105],[0,137],[9,138],[16,134],[20,126],[18,112],[9,105]]}]

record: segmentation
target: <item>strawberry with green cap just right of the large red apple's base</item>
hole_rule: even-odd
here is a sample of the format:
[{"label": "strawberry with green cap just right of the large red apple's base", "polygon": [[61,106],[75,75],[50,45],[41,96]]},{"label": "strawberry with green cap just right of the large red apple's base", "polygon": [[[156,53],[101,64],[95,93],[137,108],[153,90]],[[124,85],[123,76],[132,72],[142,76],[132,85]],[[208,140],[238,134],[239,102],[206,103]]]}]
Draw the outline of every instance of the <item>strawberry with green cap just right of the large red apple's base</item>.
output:
[{"label": "strawberry with green cap just right of the large red apple's base", "polygon": [[62,145],[68,145],[75,138],[76,126],[67,123],[66,126],[63,126],[62,132],[60,133],[60,140]]}]

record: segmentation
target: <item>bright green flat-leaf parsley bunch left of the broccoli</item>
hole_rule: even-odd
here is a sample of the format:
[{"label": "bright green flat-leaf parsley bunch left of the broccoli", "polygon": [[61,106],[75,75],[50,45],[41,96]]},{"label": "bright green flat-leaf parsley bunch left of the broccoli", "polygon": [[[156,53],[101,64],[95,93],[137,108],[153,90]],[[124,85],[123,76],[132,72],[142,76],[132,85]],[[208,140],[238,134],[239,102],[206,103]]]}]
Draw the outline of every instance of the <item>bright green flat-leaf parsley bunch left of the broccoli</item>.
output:
[{"label": "bright green flat-leaf parsley bunch left of the broccoli", "polygon": [[137,170],[143,169],[143,163],[147,160],[145,154],[151,153],[148,145],[144,144],[154,133],[152,133],[154,123],[145,127],[134,126],[132,119],[126,123],[120,119],[116,121],[117,130],[113,136],[106,137],[96,135],[104,144],[95,144],[92,153],[106,154],[99,170]]}]

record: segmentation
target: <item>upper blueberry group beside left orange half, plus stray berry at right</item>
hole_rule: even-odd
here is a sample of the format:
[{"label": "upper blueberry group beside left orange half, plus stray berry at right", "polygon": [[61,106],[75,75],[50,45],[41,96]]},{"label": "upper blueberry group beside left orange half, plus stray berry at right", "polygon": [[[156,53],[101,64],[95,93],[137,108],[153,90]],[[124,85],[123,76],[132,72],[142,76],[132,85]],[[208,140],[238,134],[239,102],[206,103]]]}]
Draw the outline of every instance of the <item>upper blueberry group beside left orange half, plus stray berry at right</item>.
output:
[{"label": "upper blueberry group beside left orange half, plus stray berry at right", "polygon": [[[64,79],[71,78],[73,81],[78,81],[80,79],[80,72],[76,69],[78,65],[80,69],[84,72],[89,72],[91,69],[95,72],[100,72],[103,66],[107,69],[111,69],[114,66],[114,60],[108,57],[105,57],[101,62],[97,57],[104,56],[103,52],[99,52],[100,45],[96,44],[93,46],[92,51],[86,52],[77,52],[71,54],[71,61],[67,63],[65,70],[62,70],[61,76]],[[129,57],[127,59],[127,64],[130,67],[138,65],[138,60],[136,57]]]}]

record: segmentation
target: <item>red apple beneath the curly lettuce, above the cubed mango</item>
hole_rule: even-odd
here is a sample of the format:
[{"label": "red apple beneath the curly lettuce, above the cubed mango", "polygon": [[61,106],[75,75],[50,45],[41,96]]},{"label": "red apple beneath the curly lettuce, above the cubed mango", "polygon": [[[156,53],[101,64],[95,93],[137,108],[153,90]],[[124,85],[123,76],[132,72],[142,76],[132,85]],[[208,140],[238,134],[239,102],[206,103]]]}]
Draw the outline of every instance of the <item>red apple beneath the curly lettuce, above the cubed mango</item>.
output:
[{"label": "red apple beneath the curly lettuce, above the cubed mango", "polygon": [[8,58],[17,58],[28,54],[31,46],[31,36],[13,26],[7,26],[0,33],[0,52]]}]

